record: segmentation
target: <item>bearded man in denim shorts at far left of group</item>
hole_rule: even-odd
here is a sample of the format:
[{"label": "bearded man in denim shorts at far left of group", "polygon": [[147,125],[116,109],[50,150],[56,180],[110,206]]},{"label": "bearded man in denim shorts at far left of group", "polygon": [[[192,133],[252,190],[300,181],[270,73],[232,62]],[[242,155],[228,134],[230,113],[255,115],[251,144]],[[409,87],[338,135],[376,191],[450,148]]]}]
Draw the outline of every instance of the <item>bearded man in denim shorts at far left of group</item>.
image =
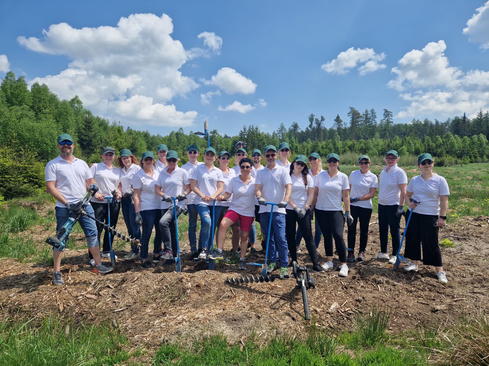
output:
[{"label": "bearded man in denim shorts at far left of group", "polygon": [[[56,231],[67,222],[69,217],[77,216],[75,212],[69,210],[70,205],[77,203],[85,196],[87,185],[95,184],[87,163],[73,156],[74,146],[73,138],[70,135],[61,134],[58,137],[60,155],[48,162],[44,169],[46,190],[56,199]],[[93,208],[90,203],[87,204],[85,210],[93,216]],[[113,271],[112,267],[101,261],[95,222],[87,216],[82,216],[78,222],[87,238],[87,245],[95,261],[95,268],[100,273]],[[60,271],[62,258],[63,251],[53,247],[53,285],[64,284]]]}]

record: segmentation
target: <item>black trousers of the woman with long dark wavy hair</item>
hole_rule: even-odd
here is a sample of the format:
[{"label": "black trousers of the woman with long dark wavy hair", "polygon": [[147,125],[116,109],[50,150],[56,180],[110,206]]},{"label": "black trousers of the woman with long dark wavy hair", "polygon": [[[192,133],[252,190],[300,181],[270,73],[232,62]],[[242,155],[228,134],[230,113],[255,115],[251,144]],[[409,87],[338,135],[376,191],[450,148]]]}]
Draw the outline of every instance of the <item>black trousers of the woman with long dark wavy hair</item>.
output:
[{"label": "black trousers of the woman with long dark wavy hair", "polygon": [[295,245],[295,233],[296,233],[296,223],[301,229],[302,235],[304,236],[304,241],[306,242],[306,248],[311,257],[311,262],[313,265],[317,263],[317,251],[316,245],[314,244],[314,237],[312,236],[312,225],[311,225],[311,214],[306,213],[302,219],[299,219],[297,213],[294,210],[285,210],[285,236],[287,237],[287,246],[289,247],[290,259],[297,262],[297,247]]}]

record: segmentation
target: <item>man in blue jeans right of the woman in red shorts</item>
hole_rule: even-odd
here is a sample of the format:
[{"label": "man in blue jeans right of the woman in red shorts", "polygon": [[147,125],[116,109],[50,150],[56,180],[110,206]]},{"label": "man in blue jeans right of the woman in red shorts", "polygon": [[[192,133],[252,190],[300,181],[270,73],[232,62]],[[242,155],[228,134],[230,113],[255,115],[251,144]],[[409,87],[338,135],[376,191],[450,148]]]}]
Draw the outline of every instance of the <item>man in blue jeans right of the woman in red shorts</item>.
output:
[{"label": "man in blue jeans right of the woman in red shorts", "polygon": [[[265,236],[269,235],[267,273],[271,273],[275,269],[277,265],[276,252],[278,251],[280,275],[283,276],[287,274],[287,266],[289,265],[288,247],[285,239],[285,206],[292,192],[292,181],[287,169],[276,162],[277,148],[273,145],[267,145],[264,151],[267,166],[257,171],[255,195],[258,198],[258,203],[262,205],[260,207],[260,225]],[[269,233],[270,209],[265,207],[266,202],[277,203],[277,206],[273,206]]]}]

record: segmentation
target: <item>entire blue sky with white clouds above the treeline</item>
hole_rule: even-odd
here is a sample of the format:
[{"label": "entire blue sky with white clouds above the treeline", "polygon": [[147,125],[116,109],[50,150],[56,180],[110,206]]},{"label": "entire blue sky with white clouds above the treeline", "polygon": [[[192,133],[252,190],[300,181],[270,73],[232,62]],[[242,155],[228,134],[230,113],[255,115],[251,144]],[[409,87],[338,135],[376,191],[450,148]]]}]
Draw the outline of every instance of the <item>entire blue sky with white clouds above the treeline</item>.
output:
[{"label": "entire blue sky with white clouds above the treeline", "polygon": [[162,135],[489,109],[489,1],[1,1],[0,75]]}]

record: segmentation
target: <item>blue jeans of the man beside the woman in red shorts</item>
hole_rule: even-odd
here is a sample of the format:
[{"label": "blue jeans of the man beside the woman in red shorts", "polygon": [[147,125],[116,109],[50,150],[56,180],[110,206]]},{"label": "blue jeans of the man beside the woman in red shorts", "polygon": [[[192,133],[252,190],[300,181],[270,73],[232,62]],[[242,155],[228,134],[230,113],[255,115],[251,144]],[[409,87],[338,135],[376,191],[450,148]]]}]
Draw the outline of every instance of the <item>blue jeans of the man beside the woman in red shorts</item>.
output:
[{"label": "blue jeans of the man beside the woman in red shorts", "polygon": [[[277,263],[277,252],[281,267],[289,265],[289,256],[287,254],[287,241],[285,239],[285,214],[274,212],[270,233],[268,233],[268,224],[270,223],[270,212],[260,214],[260,225],[262,226],[265,237],[270,234],[268,240],[268,262]],[[275,243],[275,241],[277,243]]]}]

